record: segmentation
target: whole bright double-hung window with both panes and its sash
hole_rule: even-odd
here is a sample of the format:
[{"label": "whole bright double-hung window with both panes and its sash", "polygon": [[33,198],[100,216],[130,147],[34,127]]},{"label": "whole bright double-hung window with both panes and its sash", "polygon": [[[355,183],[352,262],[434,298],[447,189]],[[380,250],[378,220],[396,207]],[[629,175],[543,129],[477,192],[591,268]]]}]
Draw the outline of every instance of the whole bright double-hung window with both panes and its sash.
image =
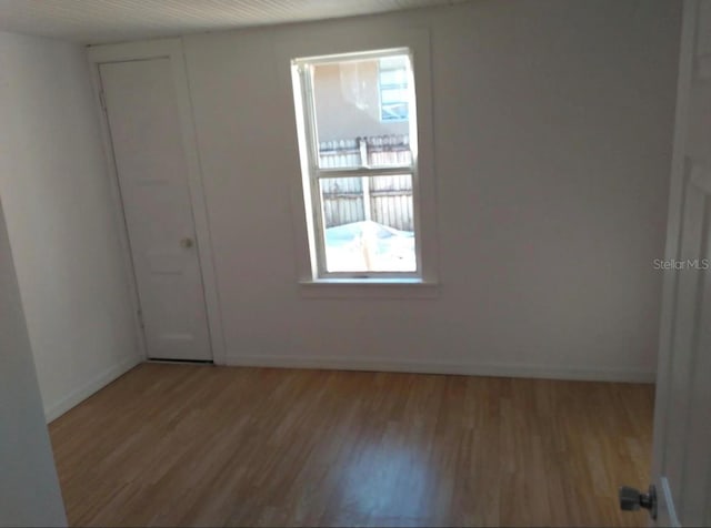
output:
[{"label": "whole bright double-hung window with both panes and its sash", "polygon": [[421,277],[411,64],[408,49],[292,61],[314,280]]}]

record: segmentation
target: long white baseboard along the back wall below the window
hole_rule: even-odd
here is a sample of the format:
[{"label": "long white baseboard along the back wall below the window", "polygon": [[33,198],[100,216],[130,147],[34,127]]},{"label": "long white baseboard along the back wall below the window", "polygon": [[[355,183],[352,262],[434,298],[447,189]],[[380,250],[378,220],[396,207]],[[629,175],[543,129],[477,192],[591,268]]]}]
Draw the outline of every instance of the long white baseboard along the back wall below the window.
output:
[{"label": "long white baseboard along the back wall below the window", "polygon": [[657,374],[633,369],[560,368],[534,365],[462,364],[445,362],[403,362],[393,359],[353,359],[346,357],[296,357],[283,355],[228,354],[228,366],[317,368],[329,370],[400,372],[455,374],[464,376],[571,379],[581,382],[654,383]]}]

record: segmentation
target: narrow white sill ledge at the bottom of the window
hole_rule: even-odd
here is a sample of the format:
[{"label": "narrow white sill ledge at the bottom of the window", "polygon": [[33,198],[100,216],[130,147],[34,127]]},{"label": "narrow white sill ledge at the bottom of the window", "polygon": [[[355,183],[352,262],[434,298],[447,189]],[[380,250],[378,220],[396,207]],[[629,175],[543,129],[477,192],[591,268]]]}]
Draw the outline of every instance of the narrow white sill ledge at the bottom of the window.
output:
[{"label": "narrow white sill ledge at the bottom of the window", "polygon": [[300,281],[308,298],[435,298],[440,284],[421,278],[318,278]]}]

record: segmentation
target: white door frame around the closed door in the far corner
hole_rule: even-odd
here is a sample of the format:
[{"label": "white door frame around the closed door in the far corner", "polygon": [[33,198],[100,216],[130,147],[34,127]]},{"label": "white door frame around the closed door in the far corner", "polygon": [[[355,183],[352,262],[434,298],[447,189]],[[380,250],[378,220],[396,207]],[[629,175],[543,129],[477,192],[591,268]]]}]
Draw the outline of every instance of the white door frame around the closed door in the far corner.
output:
[{"label": "white door frame around the closed door in the far corner", "polygon": [[208,332],[212,349],[212,361],[216,365],[226,365],[224,334],[222,332],[222,316],[220,311],[219,291],[217,284],[217,273],[212,252],[212,238],[208,219],[208,209],[202,185],[202,170],[200,166],[200,154],[198,150],[198,139],[196,134],[194,120],[192,115],[192,101],[188,81],[188,72],[181,39],[161,39],[141,42],[128,42],[120,44],[101,44],[87,48],[91,80],[93,83],[94,103],[99,110],[101,121],[101,140],[106,153],[107,170],[110,180],[111,194],[114,203],[117,224],[121,247],[126,257],[126,270],[129,286],[131,290],[131,302],[133,308],[133,323],[139,336],[139,352],[144,359],[148,359],[148,347],[146,335],[142,328],[140,312],[140,297],[138,283],[133,268],[130,238],[126,223],[123,210],[123,199],[119,185],[119,174],[111,142],[111,131],[109,119],[106,112],[104,98],[102,93],[101,75],[99,67],[109,62],[127,62],[151,59],[169,59],[176,88],[176,100],[178,104],[180,128],[183,150],[186,152],[186,163],[188,171],[188,189],[192,216],[196,227],[196,240],[198,245],[198,262],[202,278],[203,297],[206,303]]}]

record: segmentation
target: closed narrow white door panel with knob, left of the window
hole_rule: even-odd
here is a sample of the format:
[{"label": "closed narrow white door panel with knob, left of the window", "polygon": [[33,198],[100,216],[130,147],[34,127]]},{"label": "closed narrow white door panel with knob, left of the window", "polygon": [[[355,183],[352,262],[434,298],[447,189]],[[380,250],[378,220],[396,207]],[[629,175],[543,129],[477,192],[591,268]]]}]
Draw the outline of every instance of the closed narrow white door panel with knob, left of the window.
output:
[{"label": "closed narrow white door panel with knob, left of the window", "polygon": [[170,59],[99,67],[150,358],[211,361]]}]

